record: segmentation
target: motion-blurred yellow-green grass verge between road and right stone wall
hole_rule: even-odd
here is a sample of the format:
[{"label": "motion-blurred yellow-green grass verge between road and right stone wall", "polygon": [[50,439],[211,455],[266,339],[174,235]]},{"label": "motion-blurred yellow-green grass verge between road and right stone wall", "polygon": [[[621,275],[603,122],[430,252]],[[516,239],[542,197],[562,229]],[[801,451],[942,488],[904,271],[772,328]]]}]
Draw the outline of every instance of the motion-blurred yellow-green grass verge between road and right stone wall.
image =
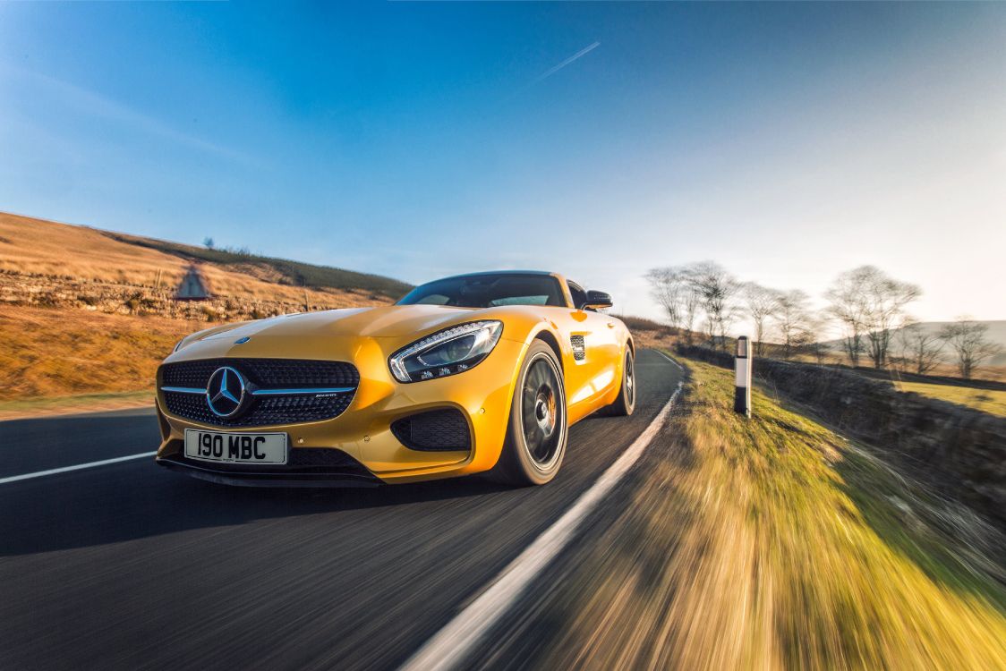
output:
[{"label": "motion-blurred yellow-green grass verge between road and right stone wall", "polygon": [[[1001,537],[729,371],[686,394],[570,573],[543,668],[1006,668]],[[999,549],[997,549],[999,548]]]}]

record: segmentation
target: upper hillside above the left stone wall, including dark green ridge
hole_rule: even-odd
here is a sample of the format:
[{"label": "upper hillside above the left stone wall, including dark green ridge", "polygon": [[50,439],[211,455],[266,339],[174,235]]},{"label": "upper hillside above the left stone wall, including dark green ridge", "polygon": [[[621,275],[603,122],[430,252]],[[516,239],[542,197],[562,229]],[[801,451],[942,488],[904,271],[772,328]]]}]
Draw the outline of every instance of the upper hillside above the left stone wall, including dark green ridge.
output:
[{"label": "upper hillside above the left stone wall, including dark green ridge", "polygon": [[396,299],[408,285],[375,275],[113,233],[0,212],[0,270],[173,289],[198,262],[213,293],[312,303]]}]

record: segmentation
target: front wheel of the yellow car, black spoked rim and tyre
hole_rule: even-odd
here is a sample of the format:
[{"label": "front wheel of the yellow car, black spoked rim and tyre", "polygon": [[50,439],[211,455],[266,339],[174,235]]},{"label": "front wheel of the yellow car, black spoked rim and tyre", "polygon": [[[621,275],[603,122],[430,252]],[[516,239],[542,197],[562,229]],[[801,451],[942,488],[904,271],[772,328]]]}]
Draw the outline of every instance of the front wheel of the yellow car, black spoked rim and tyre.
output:
[{"label": "front wheel of the yellow car, black spoked rim and tyre", "polygon": [[506,441],[489,477],[518,487],[550,482],[562,465],[568,433],[562,368],[552,349],[535,340],[520,365]]}]

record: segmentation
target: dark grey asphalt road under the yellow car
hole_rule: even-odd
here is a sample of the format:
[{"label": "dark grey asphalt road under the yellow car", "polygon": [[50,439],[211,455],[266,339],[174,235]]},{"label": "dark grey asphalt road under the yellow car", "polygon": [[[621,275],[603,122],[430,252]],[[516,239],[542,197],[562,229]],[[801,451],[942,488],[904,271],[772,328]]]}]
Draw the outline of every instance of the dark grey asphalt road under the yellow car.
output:
[{"label": "dark grey asphalt road under the yellow car", "polygon": [[[395,668],[597,481],[681,377],[651,351],[637,372],[636,413],[575,426],[545,487],[228,488],[152,458],[2,484],[0,669]],[[0,423],[0,479],[157,442],[143,411]]]}]

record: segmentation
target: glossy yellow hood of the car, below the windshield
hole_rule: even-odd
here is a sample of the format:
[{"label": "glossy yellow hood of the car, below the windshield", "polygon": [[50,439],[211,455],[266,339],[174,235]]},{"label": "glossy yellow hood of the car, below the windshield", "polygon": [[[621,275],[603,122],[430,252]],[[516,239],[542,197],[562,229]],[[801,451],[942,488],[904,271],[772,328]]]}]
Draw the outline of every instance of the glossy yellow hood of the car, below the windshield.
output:
[{"label": "glossy yellow hood of the car, below the windshield", "polygon": [[400,338],[446,328],[452,323],[472,318],[475,308],[449,308],[438,305],[389,305],[379,308],[326,310],[245,322],[226,330],[217,330],[199,341],[218,338],[297,336]]}]

